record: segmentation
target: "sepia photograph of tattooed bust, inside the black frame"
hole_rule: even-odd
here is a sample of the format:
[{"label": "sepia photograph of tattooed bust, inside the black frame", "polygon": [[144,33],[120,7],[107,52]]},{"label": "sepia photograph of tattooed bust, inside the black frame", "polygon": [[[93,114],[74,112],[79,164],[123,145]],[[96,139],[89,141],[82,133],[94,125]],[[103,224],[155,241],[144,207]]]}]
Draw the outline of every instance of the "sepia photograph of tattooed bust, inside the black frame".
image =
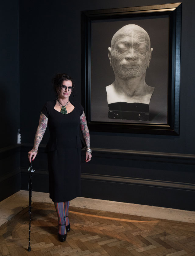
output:
[{"label": "sepia photograph of tattooed bust, inside the black frame", "polygon": [[169,18],[91,22],[91,121],[167,123]]}]

